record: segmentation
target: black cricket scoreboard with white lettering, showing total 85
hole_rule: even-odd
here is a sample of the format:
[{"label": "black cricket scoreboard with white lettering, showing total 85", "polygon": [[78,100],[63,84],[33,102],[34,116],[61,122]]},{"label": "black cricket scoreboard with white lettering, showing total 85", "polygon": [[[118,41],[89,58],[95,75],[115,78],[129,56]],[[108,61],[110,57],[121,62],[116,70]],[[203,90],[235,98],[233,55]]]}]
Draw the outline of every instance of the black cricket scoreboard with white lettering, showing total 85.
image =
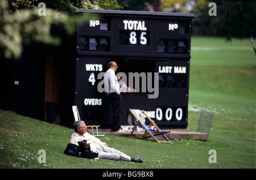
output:
[{"label": "black cricket scoreboard with white lettering, showing total 85", "polygon": [[[75,104],[89,124],[110,125],[112,114],[103,92],[109,61],[118,64],[135,93],[122,93],[122,125],[131,109],[143,109],[162,128],[188,125],[192,14],[77,10],[88,14],[77,25]],[[130,82],[131,81],[131,82]],[[137,84],[136,84],[137,83]]]}]

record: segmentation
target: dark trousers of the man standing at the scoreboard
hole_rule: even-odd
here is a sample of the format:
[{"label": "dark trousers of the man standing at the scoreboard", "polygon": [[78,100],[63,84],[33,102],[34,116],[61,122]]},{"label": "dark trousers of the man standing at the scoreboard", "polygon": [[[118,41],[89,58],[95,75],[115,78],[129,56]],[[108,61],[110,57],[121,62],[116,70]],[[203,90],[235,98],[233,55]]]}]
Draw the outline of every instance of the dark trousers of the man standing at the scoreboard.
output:
[{"label": "dark trousers of the man standing at the scoreboard", "polygon": [[113,121],[110,125],[112,131],[118,131],[121,128],[121,119],[122,119],[122,96],[117,93],[110,93],[108,95],[109,102],[113,109]]}]

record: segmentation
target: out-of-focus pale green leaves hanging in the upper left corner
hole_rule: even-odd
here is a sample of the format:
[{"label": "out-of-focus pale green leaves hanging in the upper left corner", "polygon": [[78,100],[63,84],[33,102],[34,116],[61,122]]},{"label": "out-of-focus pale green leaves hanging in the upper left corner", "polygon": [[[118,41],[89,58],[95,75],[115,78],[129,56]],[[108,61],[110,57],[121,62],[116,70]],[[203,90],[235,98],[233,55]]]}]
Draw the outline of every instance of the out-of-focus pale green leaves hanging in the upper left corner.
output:
[{"label": "out-of-focus pale green leaves hanging in the upper left corner", "polygon": [[[34,1],[35,2],[35,1]],[[44,42],[59,45],[60,39],[51,35],[53,24],[63,25],[65,31],[72,33],[74,29],[65,25],[68,15],[47,8],[47,16],[39,16],[39,8],[30,4],[28,8],[20,6],[20,2],[9,7],[7,1],[0,2],[0,57],[19,58],[22,44]],[[69,19],[69,23],[71,23]]]}]

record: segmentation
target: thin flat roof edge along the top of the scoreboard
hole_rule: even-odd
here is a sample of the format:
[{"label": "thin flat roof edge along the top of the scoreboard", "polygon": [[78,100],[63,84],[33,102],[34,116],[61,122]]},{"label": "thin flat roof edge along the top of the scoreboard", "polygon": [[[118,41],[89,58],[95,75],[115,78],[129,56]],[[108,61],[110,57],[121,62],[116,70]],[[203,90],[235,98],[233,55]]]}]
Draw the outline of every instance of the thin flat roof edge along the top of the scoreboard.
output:
[{"label": "thin flat roof edge along the top of the scoreboard", "polygon": [[88,10],[76,9],[75,13],[101,13],[101,14],[133,14],[133,15],[148,15],[148,16],[176,16],[194,18],[194,14],[180,13],[180,12],[152,12],[152,11],[126,11],[126,10]]}]

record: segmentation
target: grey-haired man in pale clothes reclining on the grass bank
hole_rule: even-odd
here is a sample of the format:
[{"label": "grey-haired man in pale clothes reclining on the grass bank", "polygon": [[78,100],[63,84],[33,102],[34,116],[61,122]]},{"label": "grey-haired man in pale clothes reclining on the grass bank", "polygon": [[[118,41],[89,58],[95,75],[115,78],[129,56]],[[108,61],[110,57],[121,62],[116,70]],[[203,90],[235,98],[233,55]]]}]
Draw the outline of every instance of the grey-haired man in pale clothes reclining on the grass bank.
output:
[{"label": "grey-haired man in pale clothes reclining on the grass bank", "polygon": [[90,135],[87,131],[87,127],[84,121],[77,121],[74,123],[74,132],[71,135],[69,143],[79,145],[78,142],[86,140],[90,144],[90,150],[98,153],[99,158],[106,158],[109,160],[123,160],[133,162],[143,162],[141,158],[131,158],[125,153],[118,151],[117,149],[108,147],[108,144],[101,142],[100,139]]}]

